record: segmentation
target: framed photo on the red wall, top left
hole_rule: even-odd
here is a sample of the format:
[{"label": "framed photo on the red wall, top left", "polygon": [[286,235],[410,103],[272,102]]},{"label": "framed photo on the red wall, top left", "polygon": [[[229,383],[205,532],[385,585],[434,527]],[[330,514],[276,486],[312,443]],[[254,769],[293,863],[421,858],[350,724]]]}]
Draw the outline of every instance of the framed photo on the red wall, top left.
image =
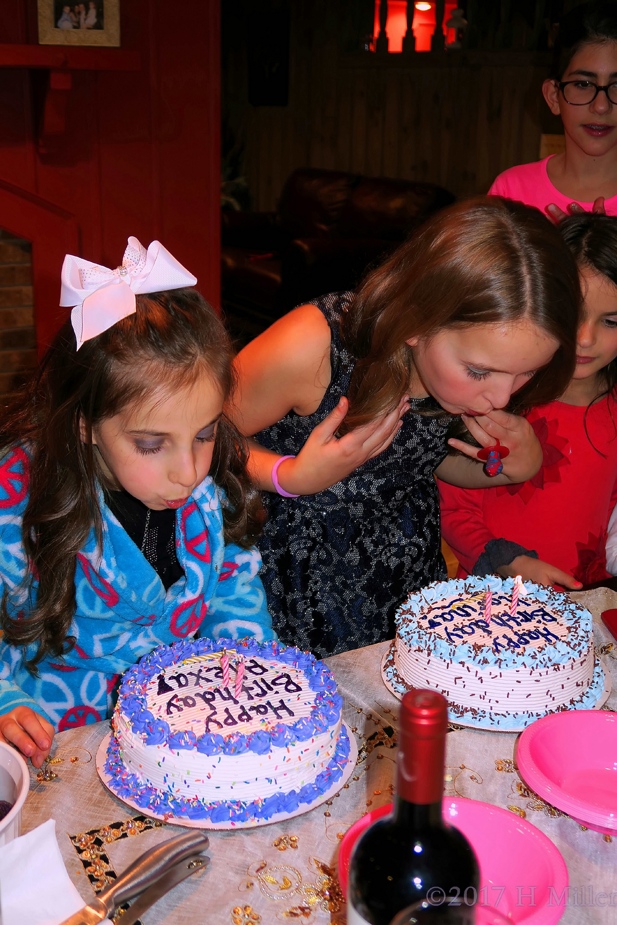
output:
[{"label": "framed photo on the red wall, top left", "polygon": [[119,0],[37,0],[40,45],[119,45]]}]

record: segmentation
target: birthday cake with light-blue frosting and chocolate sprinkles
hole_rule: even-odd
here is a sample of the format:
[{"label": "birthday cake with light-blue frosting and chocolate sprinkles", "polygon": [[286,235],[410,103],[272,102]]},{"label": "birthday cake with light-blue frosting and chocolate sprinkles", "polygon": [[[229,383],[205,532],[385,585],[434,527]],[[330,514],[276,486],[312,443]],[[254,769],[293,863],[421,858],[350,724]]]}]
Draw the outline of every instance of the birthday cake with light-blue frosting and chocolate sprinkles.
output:
[{"label": "birthday cake with light-blue frosting and chocolate sprinkles", "polygon": [[592,617],[567,594],[497,575],[434,582],[407,598],[383,675],[399,696],[438,690],[451,722],[518,730],[592,709],[604,692]]}]

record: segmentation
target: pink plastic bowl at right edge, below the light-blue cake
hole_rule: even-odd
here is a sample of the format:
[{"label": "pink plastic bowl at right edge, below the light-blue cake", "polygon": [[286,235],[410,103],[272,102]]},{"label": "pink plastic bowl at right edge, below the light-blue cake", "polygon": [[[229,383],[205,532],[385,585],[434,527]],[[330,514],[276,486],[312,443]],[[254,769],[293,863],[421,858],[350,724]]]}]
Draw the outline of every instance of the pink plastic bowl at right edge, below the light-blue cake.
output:
[{"label": "pink plastic bowl at right edge, below the light-blue cake", "polygon": [[538,796],[589,829],[617,833],[617,713],[571,709],[527,726],[517,764]]}]

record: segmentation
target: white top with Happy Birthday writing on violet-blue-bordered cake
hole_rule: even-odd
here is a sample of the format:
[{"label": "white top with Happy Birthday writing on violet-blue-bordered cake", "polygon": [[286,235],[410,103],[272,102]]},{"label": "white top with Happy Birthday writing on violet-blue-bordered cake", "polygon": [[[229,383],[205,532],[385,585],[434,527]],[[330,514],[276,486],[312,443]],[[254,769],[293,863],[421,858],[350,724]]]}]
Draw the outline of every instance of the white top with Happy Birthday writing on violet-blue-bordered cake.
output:
[{"label": "white top with Happy Birthday writing on violet-blue-bordered cake", "polygon": [[[310,707],[315,699],[310,689],[304,690],[302,684],[291,677],[290,672],[293,671],[298,680],[302,681],[301,672],[293,669],[281,672],[278,667],[266,668],[255,659],[244,665],[240,697],[234,696],[232,685],[216,684],[223,681],[220,663],[195,664],[192,671],[189,670],[191,666],[182,667],[186,670],[161,673],[154,681],[157,690],[151,709],[156,710],[158,715],[162,715],[164,710],[165,718],[171,726],[176,725],[174,718],[178,719],[179,714],[193,708],[209,710],[207,716],[199,717],[204,722],[206,733],[255,721],[284,722],[305,713],[306,709],[302,707]],[[306,695],[305,698],[301,697],[302,693]],[[288,697],[286,703],[283,697],[279,697],[282,694],[296,697]],[[295,709],[291,709],[290,701]],[[194,714],[193,719],[196,719]],[[179,722],[185,724],[185,721]]]}]

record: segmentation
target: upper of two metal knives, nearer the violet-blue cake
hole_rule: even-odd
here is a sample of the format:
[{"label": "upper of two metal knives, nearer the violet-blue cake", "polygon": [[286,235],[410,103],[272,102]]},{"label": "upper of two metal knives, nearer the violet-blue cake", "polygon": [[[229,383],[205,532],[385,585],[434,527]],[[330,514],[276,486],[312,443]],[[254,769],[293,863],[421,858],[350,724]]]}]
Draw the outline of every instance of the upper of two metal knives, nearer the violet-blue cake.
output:
[{"label": "upper of two metal knives, nearer the violet-blue cake", "polygon": [[209,844],[204,833],[197,831],[178,835],[162,845],[156,845],[130,864],[117,880],[98,894],[96,899],[65,919],[61,925],[97,925],[103,919],[111,919],[117,907],[144,893],[180,861],[186,858],[194,859],[194,856],[204,851]]}]

